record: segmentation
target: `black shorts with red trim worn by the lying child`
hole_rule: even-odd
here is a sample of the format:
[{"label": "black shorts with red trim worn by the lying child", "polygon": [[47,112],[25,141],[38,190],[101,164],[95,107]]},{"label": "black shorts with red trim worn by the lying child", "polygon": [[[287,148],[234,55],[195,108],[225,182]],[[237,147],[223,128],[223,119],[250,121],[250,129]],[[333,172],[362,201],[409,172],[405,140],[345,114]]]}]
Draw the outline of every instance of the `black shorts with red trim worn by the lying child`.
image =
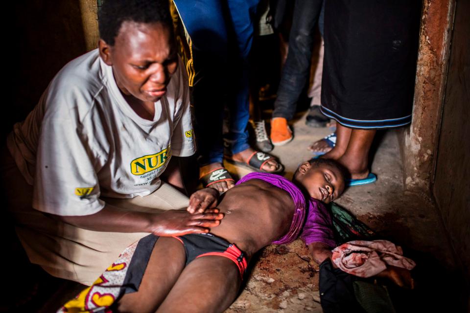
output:
[{"label": "black shorts with red trim worn by the lying child", "polygon": [[173,237],[179,240],[186,251],[186,265],[202,256],[221,256],[232,260],[240,272],[241,278],[245,273],[247,262],[243,252],[235,244],[212,234],[189,234]]}]

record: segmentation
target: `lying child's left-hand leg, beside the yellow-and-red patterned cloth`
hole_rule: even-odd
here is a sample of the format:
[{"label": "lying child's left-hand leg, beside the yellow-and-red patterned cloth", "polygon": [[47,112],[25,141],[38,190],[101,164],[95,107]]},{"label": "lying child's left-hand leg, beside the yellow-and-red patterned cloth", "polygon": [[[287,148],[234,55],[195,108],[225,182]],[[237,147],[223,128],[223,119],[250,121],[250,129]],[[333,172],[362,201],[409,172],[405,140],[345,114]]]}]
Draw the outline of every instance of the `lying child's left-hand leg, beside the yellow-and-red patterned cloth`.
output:
[{"label": "lying child's left-hand leg, beside the yellow-and-red patterned cloth", "polygon": [[139,291],[126,293],[117,312],[155,312],[171,290],[186,263],[184,246],[171,237],[160,237],[150,255]]}]

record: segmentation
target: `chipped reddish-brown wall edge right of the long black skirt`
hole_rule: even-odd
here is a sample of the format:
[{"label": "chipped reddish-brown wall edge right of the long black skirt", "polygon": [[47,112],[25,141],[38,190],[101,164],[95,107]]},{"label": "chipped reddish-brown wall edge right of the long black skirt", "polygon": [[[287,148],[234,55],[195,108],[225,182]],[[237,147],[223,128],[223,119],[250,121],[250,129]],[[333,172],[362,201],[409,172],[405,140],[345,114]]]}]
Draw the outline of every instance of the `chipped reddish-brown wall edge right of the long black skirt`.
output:
[{"label": "chipped reddish-brown wall edge right of the long black skirt", "polygon": [[455,0],[423,1],[413,120],[400,134],[404,186],[427,196],[437,151],[454,5]]}]

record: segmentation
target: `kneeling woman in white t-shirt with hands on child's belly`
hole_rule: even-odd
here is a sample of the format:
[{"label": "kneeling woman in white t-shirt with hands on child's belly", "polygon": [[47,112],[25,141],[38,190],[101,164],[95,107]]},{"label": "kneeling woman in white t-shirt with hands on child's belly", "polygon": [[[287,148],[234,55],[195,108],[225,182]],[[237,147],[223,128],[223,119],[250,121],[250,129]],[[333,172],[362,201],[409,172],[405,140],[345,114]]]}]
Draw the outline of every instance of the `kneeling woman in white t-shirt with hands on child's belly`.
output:
[{"label": "kneeling woman in white t-shirt with hands on child's belly", "polygon": [[188,206],[175,156],[195,152],[172,27],[168,1],[105,1],[99,48],[62,68],[8,136],[2,178],[17,234],[51,275],[89,285],[148,233],[218,224],[171,210]]}]

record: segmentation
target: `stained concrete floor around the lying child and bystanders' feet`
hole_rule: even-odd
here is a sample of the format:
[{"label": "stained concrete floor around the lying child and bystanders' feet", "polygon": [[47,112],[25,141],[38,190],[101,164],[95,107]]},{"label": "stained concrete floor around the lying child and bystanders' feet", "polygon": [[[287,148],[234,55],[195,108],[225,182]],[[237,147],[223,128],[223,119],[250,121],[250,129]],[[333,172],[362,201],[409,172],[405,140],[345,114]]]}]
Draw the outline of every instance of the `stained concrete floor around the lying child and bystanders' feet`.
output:
[{"label": "stained concrete floor around the lying child and bystanders' feet", "polygon": [[[272,151],[284,164],[288,178],[292,178],[302,161],[312,157],[306,149],[308,144],[331,133],[329,128],[305,126],[305,112],[298,114],[293,126],[294,140]],[[381,236],[403,246],[405,251],[412,251],[412,255],[417,255],[418,259],[426,260],[426,265],[433,270],[443,272],[447,270],[445,268],[452,268],[452,252],[434,205],[403,191],[396,133],[386,131],[378,134],[375,149],[372,172],[377,175],[377,181],[349,188],[336,203]],[[249,173],[231,164],[226,166],[239,177]],[[428,262],[429,259],[432,262]],[[424,276],[424,285],[428,278],[431,283],[437,283],[431,277]],[[442,282],[445,283],[447,281]],[[435,299],[442,299],[439,289],[434,291]],[[431,295],[432,291],[423,291],[423,294]],[[322,312],[318,293],[318,266],[308,257],[305,245],[297,240],[288,246],[266,247],[260,253],[244,290],[226,312]]]}]

